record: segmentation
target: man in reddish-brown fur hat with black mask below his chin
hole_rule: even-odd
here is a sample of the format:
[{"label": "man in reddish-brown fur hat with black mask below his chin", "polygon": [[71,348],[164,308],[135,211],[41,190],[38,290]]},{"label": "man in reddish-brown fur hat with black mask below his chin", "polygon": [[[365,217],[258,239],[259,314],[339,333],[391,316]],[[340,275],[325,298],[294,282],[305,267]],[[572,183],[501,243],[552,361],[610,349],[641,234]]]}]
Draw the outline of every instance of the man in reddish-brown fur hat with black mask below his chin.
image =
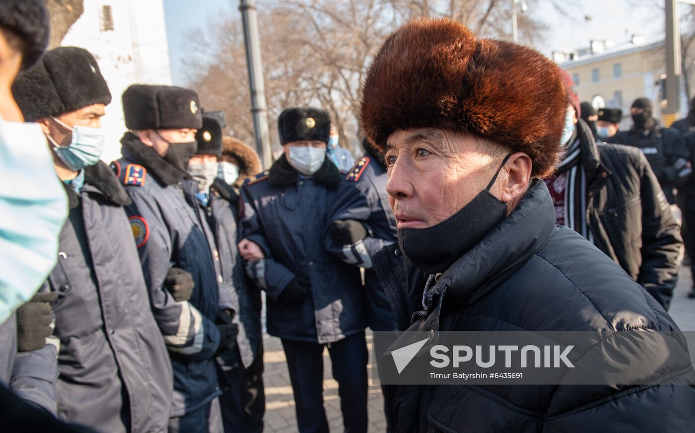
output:
[{"label": "man in reddish-brown fur hat with black mask below his chin", "polygon": [[[388,167],[398,244],[372,262],[402,330],[432,341],[440,331],[603,334],[605,353],[632,355],[614,364],[627,374],[650,359],[621,341],[678,329],[615,262],[555,226],[542,178],[557,160],[566,101],[552,61],[455,22],[417,20],[384,42],[368,71],[361,122]],[[425,285],[403,284],[403,257],[429,275]],[[692,373],[685,343],[675,347],[682,363],[667,375]],[[662,382],[391,385],[386,412],[395,432],[692,429],[695,389]]]}]

